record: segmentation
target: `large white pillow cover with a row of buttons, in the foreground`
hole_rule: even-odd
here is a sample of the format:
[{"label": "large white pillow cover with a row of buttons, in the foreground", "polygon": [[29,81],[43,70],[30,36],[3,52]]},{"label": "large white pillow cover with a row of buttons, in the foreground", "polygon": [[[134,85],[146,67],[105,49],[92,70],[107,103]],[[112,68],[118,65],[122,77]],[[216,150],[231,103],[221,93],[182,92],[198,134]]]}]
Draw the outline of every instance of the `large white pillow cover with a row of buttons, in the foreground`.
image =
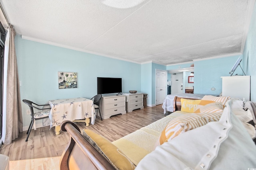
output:
[{"label": "large white pillow cover with a row of buttons, in the foreground", "polygon": [[[136,169],[245,169],[256,167],[256,146],[228,101],[219,121],[156,147]],[[204,167],[204,168],[202,168]]]}]

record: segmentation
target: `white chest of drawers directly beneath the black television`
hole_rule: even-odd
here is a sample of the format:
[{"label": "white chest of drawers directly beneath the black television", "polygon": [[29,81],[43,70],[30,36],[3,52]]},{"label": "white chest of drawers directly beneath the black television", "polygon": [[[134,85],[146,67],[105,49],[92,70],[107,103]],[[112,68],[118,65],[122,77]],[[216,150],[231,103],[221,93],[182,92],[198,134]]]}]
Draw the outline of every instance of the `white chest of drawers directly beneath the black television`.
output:
[{"label": "white chest of drawers directly beneath the black television", "polygon": [[106,95],[102,96],[100,102],[100,111],[102,119],[108,119],[112,115],[126,114],[125,96]]}]

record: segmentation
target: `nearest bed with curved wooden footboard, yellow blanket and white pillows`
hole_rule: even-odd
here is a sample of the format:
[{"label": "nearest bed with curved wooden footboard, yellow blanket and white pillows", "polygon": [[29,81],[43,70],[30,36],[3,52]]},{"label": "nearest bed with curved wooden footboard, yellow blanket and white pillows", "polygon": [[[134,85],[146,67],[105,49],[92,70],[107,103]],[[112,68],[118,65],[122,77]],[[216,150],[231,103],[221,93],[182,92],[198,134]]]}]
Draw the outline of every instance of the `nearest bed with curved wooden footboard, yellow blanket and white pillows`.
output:
[{"label": "nearest bed with curved wooden footboard, yellow blanket and white pillows", "polygon": [[[244,104],[242,101],[228,100],[226,107],[222,109],[223,113],[214,112],[214,117],[208,119],[218,117],[218,120],[206,122],[194,129],[180,131],[177,136],[173,135],[174,133],[168,135],[172,139],[166,139],[161,143],[160,139],[166,138],[166,129],[170,124],[196,114],[196,112],[184,111],[182,100],[184,98],[175,98],[174,113],[112,143],[86,129],[81,133],[75,123],[64,121],[61,130],[70,134],[70,141],[62,154],[60,170],[220,169],[220,167],[221,169],[248,169],[256,167],[254,143],[256,141],[256,106],[254,102]],[[186,100],[188,101],[190,99]],[[205,102],[205,100],[202,101]],[[198,100],[194,99],[194,102]],[[207,105],[202,104],[199,110],[209,109],[210,107],[206,108]],[[224,107],[220,102],[211,102],[209,105],[211,107],[216,105],[218,109],[221,106]],[[202,116],[203,112],[199,115]],[[203,119],[208,116],[208,113],[205,115],[202,116]],[[197,121],[198,117],[195,120]],[[186,125],[178,127],[190,127],[190,124]],[[250,132],[246,126],[250,126]]]}]

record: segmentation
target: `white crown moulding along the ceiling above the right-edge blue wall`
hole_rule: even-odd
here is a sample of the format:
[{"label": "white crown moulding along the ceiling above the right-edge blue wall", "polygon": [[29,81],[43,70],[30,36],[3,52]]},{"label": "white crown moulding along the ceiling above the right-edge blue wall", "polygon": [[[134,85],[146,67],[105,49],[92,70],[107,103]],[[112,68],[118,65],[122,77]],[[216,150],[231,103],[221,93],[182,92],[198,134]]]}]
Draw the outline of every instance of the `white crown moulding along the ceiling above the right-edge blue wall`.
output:
[{"label": "white crown moulding along the ceiling above the right-edge blue wall", "polygon": [[244,21],[244,23],[245,23],[244,24],[244,31],[243,31],[243,36],[242,36],[241,53],[244,52],[244,45],[246,43],[248,31],[250,29],[250,22],[252,20],[252,12],[253,12],[253,8],[254,8],[254,3],[255,3],[255,0],[248,0],[247,10],[246,10],[246,18],[245,18],[245,21]]}]

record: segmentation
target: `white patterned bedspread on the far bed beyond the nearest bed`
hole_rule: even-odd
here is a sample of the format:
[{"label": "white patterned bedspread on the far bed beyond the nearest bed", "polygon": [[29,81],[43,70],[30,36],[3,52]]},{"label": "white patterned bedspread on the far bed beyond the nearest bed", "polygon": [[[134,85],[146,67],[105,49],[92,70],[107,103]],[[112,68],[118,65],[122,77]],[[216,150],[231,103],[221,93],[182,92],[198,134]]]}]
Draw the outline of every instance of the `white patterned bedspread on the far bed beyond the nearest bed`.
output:
[{"label": "white patterned bedspread on the far bed beyond the nearest bed", "polygon": [[205,94],[191,94],[191,93],[168,94],[164,99],[164,102],[162,105],[162,108],[164,109],[164,114],[166,114],[166,111],[174,112],[173,106],[174,106],[175,96],[180,98],[202,99],[205,96]]}]

